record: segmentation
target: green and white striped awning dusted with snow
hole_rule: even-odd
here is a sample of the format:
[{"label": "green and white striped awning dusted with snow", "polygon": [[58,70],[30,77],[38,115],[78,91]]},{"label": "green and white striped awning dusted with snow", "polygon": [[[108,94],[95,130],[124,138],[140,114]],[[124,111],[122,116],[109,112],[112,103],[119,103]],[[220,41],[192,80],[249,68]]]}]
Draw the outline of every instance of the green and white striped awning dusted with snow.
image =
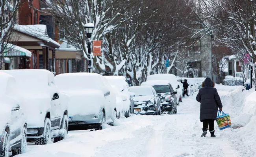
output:
[{"label": "green and white striped awning dusted with snow", "polygon": [[4,57],[26,56],[31,57],[31,52],[22,47],[8,43],[7,50],[4,52]]}]

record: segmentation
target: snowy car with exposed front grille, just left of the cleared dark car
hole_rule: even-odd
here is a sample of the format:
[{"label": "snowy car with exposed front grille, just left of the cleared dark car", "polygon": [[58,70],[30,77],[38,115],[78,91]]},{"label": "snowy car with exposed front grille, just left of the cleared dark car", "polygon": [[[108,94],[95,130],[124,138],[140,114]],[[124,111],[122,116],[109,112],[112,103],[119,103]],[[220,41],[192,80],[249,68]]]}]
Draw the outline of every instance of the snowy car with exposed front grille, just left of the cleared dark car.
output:
[{"label": "snowy car with exposed front grille, just left of the cleared dark car", "polygon": [[134,113],[141,115],[161,115],[160,94],[152,86],[132,86],[135,93]]}]

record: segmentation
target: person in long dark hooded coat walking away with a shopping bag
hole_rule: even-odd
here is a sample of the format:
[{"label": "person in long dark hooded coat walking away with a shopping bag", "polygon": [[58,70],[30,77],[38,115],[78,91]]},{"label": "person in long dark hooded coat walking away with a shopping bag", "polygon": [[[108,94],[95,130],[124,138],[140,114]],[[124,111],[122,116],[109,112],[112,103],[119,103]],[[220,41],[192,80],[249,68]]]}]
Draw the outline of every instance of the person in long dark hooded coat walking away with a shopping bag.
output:
[{"label": "person in long dark hooded coat walking away with a shopping bag", "polygon": [[208,125],[211,137],[214,135],[214,120],[216,120],[218,108],[222,111],[221,98],[214,88],[214,82],[207,77],[202,88],[197,94],[197,101],[200,102],[200,121],[203,122],[202,137],[207,134]]}]

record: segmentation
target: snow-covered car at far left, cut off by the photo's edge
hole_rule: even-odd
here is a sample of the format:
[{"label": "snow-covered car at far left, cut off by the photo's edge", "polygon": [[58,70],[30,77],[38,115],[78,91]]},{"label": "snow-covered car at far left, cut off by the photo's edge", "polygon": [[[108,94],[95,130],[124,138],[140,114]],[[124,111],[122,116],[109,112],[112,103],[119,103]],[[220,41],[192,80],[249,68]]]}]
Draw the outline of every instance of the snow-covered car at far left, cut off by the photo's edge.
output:
[{"label": "snow-covered car at far left, cut off by the photo's edge", "polygon": [[27,119],[15,78],[0,72],[0,156],[26,152]]}]

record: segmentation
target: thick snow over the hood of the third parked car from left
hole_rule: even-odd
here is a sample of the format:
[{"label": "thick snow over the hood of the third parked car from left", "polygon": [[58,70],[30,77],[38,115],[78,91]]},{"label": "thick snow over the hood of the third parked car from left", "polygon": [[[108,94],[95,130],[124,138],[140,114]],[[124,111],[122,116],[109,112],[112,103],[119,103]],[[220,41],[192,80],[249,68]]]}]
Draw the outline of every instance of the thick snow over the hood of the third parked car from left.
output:
[{"label": "thick snow over the hood of the third parked car from left", "polygon": [[70,90],[61,91],[69,96],[69,115],[98,114],[106,105],[104,94],[100,90]]}]

